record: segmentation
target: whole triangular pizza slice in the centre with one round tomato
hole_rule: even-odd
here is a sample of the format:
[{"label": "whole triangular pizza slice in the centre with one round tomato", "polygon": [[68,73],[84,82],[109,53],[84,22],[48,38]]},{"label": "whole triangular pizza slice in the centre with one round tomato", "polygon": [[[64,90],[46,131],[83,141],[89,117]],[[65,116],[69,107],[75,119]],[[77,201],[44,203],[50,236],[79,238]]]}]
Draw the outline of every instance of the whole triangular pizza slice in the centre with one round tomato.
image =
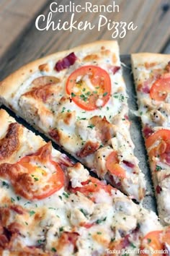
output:
[{"label": "whole triangular pizza slice in the centre with one round tomato", "polygon": [[146,182],[130,138],[116,41],[46,56],[0,84],[1,103],[135,200]]}]

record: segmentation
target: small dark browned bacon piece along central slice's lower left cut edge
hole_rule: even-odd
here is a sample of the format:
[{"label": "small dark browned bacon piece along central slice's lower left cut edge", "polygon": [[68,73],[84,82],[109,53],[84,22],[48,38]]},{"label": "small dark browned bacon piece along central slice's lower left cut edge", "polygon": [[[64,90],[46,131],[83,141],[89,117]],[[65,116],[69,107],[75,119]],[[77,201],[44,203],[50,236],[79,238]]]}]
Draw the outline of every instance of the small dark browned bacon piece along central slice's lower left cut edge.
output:
[{"label": "small dark browned bacon piece along central slice's lower left cut edge", "polygon": [[91,155],[99,148],[99,142],[88,141],[76,155],[80,158],[85,158],[87,155]]}]

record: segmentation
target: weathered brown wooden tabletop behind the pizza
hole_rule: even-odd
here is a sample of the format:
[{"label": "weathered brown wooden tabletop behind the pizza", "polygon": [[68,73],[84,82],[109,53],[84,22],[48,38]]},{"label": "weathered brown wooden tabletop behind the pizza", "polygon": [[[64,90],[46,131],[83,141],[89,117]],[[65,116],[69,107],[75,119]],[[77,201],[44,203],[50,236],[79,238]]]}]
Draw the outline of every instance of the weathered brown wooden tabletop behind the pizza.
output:
[{"label": "weathered brown wooden tabletop behind the pizza", "polygon": [[[50,4],[69,4],[70,0],[0,0],[0,80],[33,59],[94,40],[112,39],[111,31],[39,31],[35,20],[40,14],[47,17]],[[111,0],[89,0],[92,4],[113,4]],[[78,22],[96,24],[99,15],[115,22],[133,22],[138,28],[117,38],[120,53],[139,51],[170,53],[170,0],[116,0],[119,12],[75,13]],[[72,4],[84,1],[72,0]],[[53,13],[53,20],[70,20],[69,12]],[[96,24],[97,25],[97,24]]]}]

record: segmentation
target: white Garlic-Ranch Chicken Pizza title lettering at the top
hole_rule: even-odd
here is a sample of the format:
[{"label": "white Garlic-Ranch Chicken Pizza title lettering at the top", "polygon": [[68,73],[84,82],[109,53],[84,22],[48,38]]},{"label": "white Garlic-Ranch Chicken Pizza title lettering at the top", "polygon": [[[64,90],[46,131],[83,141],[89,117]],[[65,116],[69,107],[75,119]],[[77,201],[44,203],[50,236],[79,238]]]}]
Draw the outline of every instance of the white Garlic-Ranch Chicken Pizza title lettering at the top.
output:
[{"label": "white Garlic-Ranch Chicken Pizza title lettering at the top", "polygon": [[[53,13],[64,13],[68,12],[71,14],[70,20],[53,20]],[[95,23],[83,20],[78,22],[76,20],[77,13],[97,13],[97,20]],[[120,6],[112,1],[112,4],[92,4],[90,1],[84,1],[82,4],[75,4],[72,1],[69,4],[58,4],[53,1],[50,4],[50,12],[48,15],[40,14],[35,20],[35,27],[37,30],[94,30],[100,32],[102,29],[110,31],[111,38],[125,38],[128,30],[136,30],[138,26],[134,25],[133,22],[115,22],[107,18],[108,13],[120,12]]]}]

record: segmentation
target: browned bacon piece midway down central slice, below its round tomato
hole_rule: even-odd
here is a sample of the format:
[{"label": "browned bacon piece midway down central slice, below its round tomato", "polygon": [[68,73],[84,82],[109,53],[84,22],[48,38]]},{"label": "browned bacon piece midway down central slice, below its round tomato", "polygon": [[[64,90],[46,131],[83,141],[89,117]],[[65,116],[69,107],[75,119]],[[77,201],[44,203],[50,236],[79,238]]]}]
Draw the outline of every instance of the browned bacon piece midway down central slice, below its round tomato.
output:
[{"label": "browned bacon piece midway down central slice, below its round tomato", "polygon": [[105,116],[103,119],[99,116],[93,116],[90,119],[90,124],[93,124],[97,129],[97,135],[102,140],[102,144],[106,144],[113,137],[113,126],[107,121]]}]

